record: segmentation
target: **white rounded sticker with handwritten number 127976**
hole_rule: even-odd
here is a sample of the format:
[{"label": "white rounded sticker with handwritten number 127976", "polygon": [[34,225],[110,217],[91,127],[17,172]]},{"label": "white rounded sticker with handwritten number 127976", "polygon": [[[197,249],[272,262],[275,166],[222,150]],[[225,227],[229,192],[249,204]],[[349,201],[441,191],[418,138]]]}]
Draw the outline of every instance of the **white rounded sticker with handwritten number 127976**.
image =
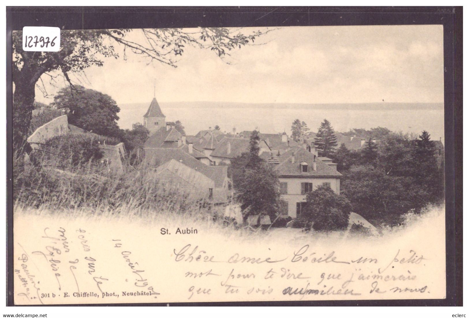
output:
[{"label": "white rounded sticker with handwritten number 127976", "polygon": [[58,52],[60,49],[60,28],[23,27],[24,51]]}]

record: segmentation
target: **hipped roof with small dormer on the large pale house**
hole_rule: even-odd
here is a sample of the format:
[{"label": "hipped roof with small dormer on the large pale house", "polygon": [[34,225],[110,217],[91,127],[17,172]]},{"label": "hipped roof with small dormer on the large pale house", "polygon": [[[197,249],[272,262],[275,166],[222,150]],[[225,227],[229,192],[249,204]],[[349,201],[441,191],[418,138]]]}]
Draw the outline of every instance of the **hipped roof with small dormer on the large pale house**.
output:
[{"label": "hipped roof with small dormer on the large pale house", "polygon": [[[292,153],[295,154],[295,163],[291,162]],[[296,147],[292,151],[287,151],[279,157],[280,164],[274,167],[280,176],[297,177],[341,177],[337,170],[329,167],[327,164],[316,158],[316,170],[313,170],[314,154],[304,150],[302,147]],[[308,172],[302,172],[300,162],[308,164]]]}]

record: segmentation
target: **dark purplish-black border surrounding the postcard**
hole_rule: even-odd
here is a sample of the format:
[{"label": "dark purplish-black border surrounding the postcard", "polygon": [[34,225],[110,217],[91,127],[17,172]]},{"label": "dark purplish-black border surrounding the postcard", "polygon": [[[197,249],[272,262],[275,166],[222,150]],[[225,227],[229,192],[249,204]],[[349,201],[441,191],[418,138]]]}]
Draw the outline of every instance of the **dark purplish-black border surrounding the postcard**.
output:
[{"label": "dark purplish-black border surrounding the postcard", "polygon": [[[170,306],[462,306],[462,7],[7,7],[7,306],[13,289],[12,32],[347,25],[443,26],[445,104],[446,299],[169,303]],[[166,306],[103,303],[44,306]]]}]

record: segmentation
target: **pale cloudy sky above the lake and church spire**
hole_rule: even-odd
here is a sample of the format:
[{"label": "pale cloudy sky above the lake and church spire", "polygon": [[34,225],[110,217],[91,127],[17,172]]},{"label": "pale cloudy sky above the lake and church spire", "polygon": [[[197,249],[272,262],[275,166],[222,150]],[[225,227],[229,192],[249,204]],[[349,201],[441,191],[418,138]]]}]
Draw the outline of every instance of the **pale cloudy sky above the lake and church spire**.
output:
[{"label": "pale cloudy sky above the lake and church spire", "polygon": [[[264,30],[242,29],[243,32]],[[140,30],[129,34],[139,40]],[[85,87],[110,95],[119,104],[219,101],[244,103],[443,103],[443,28],[441,25],[282,27],[257,45],[232,52],[226,61],[214,52],[186,48],[177,68],[128,53],[90,67]],[[121,52],[122,47],[117,48]],[[53,101],[65,86],[53,87]]]}]

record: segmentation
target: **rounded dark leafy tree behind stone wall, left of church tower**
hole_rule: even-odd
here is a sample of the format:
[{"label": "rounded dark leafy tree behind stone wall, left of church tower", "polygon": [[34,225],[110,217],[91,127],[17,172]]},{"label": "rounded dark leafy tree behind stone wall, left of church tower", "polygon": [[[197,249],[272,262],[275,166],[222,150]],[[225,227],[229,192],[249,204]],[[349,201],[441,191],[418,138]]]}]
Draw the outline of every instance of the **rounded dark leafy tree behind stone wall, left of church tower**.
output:
[{"label": "rounded dark leafy tree behind stone wall, left of church tower", "polygon": [[62,88],[52,105],[63,109],[68,123],[102,136],[119,137],[121,109],[109,95],[79,85]]}]

